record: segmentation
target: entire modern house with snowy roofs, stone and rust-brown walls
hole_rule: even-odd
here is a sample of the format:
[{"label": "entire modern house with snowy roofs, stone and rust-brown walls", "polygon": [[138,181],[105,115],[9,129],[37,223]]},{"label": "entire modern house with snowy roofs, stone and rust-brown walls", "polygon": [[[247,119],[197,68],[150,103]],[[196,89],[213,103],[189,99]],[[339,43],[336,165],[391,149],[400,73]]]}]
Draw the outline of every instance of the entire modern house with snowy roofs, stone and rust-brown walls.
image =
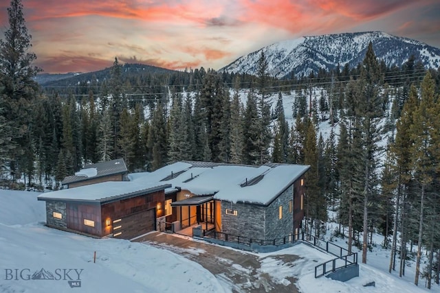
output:
[{"label": "entire modern house with snowy roofs, stone and rust-brown walls", "polygon": [[[125,166],[123,161],[106,163]],[[86,169],[95,168],[90,166]],[[115,173],[123,178],[124,168],[118,167]],[[46,202],[47,226],[96,237],[131,239],[154,230],[185,229],[192,235],[197,227],[203,235],[215,232],[275,243],[299,233],[308,169],[277,163],[181,161],[155,172],[129,174],[129,181],[91,184],[106,178],[97,171],[75,182],[85,186],[41,194],[38,199]]]}]

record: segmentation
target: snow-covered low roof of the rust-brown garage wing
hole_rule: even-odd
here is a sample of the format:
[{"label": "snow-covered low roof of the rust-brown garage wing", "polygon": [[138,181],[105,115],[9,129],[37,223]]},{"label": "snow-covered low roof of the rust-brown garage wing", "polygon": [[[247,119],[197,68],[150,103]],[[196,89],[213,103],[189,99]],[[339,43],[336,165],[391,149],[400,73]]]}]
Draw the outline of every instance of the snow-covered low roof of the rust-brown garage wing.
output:
[{"label": "snow-covered low roof of the rust-brown garage wing", "polygon": [[69,189],[47,192],[38,196],[39,200],[80,201],[108,203],[125,198],[133,198],[143,194],[171,187],[168,183],[149,182],[135,183],[129,181],[109,181],[85,185]]}]

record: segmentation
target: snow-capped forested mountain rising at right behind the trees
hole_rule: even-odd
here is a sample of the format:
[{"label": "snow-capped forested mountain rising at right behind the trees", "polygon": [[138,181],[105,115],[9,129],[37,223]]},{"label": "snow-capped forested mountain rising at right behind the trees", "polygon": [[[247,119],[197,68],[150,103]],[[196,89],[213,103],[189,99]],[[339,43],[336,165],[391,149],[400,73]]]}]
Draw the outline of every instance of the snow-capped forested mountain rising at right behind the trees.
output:
[{"label": "snow-capped forested mountain rising at right behind the trees", "polygon": [[289,78],[292,74],[307,76],[321,68],[328,71],[338,64],[356,67],[364,59],[370,41],[377,58],[388,66],[400,67],[414,55],[427,68],[440,67],[439,48],[384,32],[357,32],[284,40],[241,56],[219,71],[255,74],[261,51],[267,58],[268,73],[276,78]]}]

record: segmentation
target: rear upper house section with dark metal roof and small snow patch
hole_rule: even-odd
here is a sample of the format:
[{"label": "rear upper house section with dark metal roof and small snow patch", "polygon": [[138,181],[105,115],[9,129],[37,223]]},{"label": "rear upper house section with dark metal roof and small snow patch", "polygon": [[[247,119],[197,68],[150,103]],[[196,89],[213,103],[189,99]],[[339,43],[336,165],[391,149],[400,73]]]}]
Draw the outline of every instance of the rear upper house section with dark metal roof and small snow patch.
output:
[{"label": "rear upper house section with dark metal roof and small snow patch", "polygon": [[123,159],[115,159],[86,165],[75,175],[66,176],[61,182],[64,188],[101,183],[106,181],[126,181],[128,170]]}]

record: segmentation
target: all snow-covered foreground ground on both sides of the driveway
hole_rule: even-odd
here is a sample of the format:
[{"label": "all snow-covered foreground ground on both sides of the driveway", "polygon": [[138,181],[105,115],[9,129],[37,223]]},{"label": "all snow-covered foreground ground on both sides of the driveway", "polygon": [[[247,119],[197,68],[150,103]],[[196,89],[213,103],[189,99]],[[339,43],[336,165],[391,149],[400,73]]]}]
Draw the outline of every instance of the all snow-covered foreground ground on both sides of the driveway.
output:
[{"label": "all snow-covered foreground ground on both sides of the driveway", "polygon": [[[0,189],[0,292],[231,292],[198,263],[165,249],[122,239],[94,239],[44,226],[45,206],[39,194]],[[342,244],[337,242],[338,244]],[[96,251],[96,263],[94,252]],[[300,255],[287,266],[272,255]],[[318,263],[333,256],[299,244],[276,253],[259,254],[261,271],[276,278],[298,279],[301,292],[428,292],[388,274],[388,250],[375,248],[360,277],[346,283],[314,278]],[[234,263],[232,263],[234,266]],[[45,279],[32,279],[36,276]],[[243,274],[247,270],[243,268]],[[53,279],[51,279],[53,277]],[[69,281],[71,281],[69,283]],[[80,283],[78,283],[80,281]],[[375,287],[363,285],[375,281]],[[80,288],[71,288],[78,286]],[[431,292],[440,292],[433,285]]]}]

